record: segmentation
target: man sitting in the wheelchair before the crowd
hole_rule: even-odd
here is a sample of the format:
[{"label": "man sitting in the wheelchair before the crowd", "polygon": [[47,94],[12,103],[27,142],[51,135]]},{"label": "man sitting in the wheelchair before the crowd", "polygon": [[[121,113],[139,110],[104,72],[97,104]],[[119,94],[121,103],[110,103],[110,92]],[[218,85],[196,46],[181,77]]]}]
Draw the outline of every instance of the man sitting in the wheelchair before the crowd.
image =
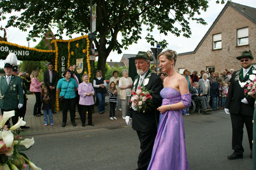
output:
[{"label": "man sitting in the wheelchair before the crowd", "polygon": [[203,96],[203,94],[201,93],[198,82],[193,82],[193,86],[190,88],[190,93],[193,100],[201,101],[204,112],[211,110],[208,98],[206,96]]}]

